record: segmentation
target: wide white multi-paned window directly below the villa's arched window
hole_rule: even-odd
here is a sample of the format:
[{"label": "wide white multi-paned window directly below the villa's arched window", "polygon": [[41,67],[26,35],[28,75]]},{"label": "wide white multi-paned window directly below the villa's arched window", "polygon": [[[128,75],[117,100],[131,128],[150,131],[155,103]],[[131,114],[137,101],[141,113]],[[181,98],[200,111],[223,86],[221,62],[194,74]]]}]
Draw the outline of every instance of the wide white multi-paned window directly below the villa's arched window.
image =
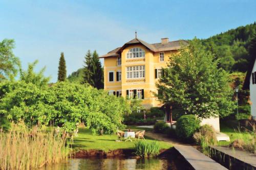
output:
[{"label": "wide white multi-paned window directly below the villa's arched window", "polygon": [[130,66],[126,70],[127,79],[145,78],[145,65]]}]

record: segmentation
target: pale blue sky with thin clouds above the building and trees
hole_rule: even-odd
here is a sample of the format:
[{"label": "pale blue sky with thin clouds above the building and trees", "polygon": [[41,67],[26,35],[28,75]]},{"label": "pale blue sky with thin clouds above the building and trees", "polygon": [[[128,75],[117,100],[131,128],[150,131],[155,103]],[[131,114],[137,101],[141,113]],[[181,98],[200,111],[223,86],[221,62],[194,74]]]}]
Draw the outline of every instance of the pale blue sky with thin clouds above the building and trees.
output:
[{"label": "pale blue sky with thin clouds above the building and trees", "polygon": [[3,1],[0,40],[14,39],[24,68],[39,60],[57,80],[60,52],[68,75],[86,52],[103,55],[135,37],[148,42],[207,38],[256,21],[255,0],[215,1]]}]

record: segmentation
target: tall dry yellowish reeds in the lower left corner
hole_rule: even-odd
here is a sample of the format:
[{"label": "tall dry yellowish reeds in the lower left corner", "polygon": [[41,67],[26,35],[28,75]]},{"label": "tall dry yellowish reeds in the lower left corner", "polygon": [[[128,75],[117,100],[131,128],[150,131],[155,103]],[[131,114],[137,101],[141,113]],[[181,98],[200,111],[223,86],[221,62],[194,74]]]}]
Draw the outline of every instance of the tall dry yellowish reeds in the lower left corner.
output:
[{"label": "tall dry yellowish reeds in the lower left corner", "polygon": [[0,132],[0,169],[35,169],[67,161],[68,156],[65,141],[53,131],[30,130],[20,123]]}]

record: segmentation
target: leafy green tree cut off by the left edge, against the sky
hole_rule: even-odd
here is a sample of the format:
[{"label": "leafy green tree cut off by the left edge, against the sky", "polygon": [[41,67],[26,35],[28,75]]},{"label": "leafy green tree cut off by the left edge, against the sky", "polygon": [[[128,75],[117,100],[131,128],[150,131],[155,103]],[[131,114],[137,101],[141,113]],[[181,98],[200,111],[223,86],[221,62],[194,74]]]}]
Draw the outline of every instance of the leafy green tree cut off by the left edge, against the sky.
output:
[{"label": "leafy green tree cut off by the left edge, against the sky", "polygon": [[4,39],[0,42],[0,81],[16,76],[19,59],[14,56],[13,48],[14,40],[12,39]]}]

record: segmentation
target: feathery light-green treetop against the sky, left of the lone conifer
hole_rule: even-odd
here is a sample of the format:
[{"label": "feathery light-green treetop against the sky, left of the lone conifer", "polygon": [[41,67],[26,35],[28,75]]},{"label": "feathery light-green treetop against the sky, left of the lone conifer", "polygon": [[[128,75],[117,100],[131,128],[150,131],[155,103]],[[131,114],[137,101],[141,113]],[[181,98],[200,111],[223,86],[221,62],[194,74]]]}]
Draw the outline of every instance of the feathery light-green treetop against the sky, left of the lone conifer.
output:
[{"label": "feathery light-green treetop against the sky, left of the lone conifer", "polygon": [[33,63],[29,63],[28,69],[23,70],[20,68],[20,80],[24,81],[25,83],[32,83],[35,86],[47,86],[50,80],[50,77],[45,77],[44,72],[46,67],[42,68],[38,73],[34,72],[34,68],[38,60],[34,61]]}]

